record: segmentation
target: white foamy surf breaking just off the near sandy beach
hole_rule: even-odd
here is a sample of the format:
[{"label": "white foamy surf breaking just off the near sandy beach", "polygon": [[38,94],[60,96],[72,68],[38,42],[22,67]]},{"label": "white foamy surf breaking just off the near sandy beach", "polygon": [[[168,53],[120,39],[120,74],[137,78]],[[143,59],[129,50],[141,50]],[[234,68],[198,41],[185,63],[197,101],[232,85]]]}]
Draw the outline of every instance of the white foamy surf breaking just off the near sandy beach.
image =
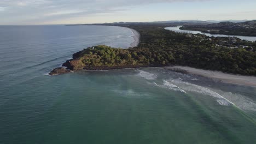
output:
[{"label": "white foamy surf breaking just off the near sandy beach", "polygon": [[[234,105],[238,109],[241,110],[247,110],[247,111],[256,111],[256,102],[245,95],[237,94],[237,93],[231,93],[231,92],[223,92],[220,89],[210,89],[204,86],[196,85],[194,83],[187,82],[183,79],[189,79],[191,81],[199,81],[199,79],[196,79],[196,77],[189,77],[184,76],[184,74],[181,77],[176,76],[177,79],[170,79],[170,76],[168,76],[167,79],[163,79],[162,82],[156,81],[158,79],[158,75],[148,73],[147,71],[143,70],[136,70],[139,71],[137,74],[138,76],[143,77],[147,80],[155,80],[155,81],[148,81],[147,83],[149,85],[155,85],[161,88],[167,88],[172,91],[182,92],[182,93],[188,93],[188,92],[195,92],[200,93],[203,95],[209,95],[216,99],[217,103],[219,105]],[[184,76],[184,77],[183,77]]]}]

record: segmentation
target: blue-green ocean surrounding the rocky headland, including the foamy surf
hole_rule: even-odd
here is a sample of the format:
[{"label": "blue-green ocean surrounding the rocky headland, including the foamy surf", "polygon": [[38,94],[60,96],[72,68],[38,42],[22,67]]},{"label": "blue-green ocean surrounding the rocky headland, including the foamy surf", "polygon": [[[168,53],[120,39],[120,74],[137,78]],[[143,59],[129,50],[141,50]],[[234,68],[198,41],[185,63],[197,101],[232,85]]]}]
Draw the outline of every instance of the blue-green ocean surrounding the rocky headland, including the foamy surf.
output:
[{"label": "blue-green ocean surrounding the rocky headland, including the foamy surf", "polygon": [[0,26],[0,143],[256,143],[256,88],[165,68],[47,73],[128,28]]}]

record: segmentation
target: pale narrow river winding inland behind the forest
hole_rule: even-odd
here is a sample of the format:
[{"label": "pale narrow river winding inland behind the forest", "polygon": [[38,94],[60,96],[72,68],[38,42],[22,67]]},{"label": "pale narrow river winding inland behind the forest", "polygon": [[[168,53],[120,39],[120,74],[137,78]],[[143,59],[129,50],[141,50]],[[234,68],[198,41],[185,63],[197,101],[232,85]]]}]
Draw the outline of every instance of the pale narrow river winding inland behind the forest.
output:
[{"label": "pale narrow river winding inland behind the forest", "polygon": [[174,31],[174,32],[179,32],[179,33],[192,33],[192,34],[205,34],[208,37],[237,37],[242,40],[248,40],[248,41],[256,41],[256,37],[247,37],[247,36],[241,36],[241,35],[225,35],[225,34],[210,34],[210,33],[202,33],[200,31],[188,31],[188,30],[182,30],[179,29],[182,26],[176,26],[176,27],[166,27],[165,29]]}]

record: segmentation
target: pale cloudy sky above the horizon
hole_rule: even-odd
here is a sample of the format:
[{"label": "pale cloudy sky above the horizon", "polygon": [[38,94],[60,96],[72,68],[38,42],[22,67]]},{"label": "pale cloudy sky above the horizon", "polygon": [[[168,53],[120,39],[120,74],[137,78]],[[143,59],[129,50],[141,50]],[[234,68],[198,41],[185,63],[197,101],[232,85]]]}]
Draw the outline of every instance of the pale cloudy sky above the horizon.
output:
[{"label": "pale cloudy sky above the horizon", "polygon": [[255,20],[255,0],[0,0],[0,25]]}]

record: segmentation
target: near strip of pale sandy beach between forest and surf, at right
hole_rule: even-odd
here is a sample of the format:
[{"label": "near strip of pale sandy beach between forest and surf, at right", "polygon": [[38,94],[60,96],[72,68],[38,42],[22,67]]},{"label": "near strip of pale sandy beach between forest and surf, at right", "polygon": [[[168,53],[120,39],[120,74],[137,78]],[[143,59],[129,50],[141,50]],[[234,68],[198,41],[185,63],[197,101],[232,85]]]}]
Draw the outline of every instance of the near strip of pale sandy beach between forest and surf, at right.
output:
[{"label": "near strip of pale sandy beach between forest and surf, at right", "polygon": [[255,76],[233,75],[233,74],[222,73],[220,71],[202,70],[202,69],[182,67],[182,66],[165,67],[165,68],[171,69],[171,70],[185,71],[189,74],[201,75],[205,77],[210,77],[212,79],[219,79],[225,83],[233,83],[236,85],[256,87]]}]

